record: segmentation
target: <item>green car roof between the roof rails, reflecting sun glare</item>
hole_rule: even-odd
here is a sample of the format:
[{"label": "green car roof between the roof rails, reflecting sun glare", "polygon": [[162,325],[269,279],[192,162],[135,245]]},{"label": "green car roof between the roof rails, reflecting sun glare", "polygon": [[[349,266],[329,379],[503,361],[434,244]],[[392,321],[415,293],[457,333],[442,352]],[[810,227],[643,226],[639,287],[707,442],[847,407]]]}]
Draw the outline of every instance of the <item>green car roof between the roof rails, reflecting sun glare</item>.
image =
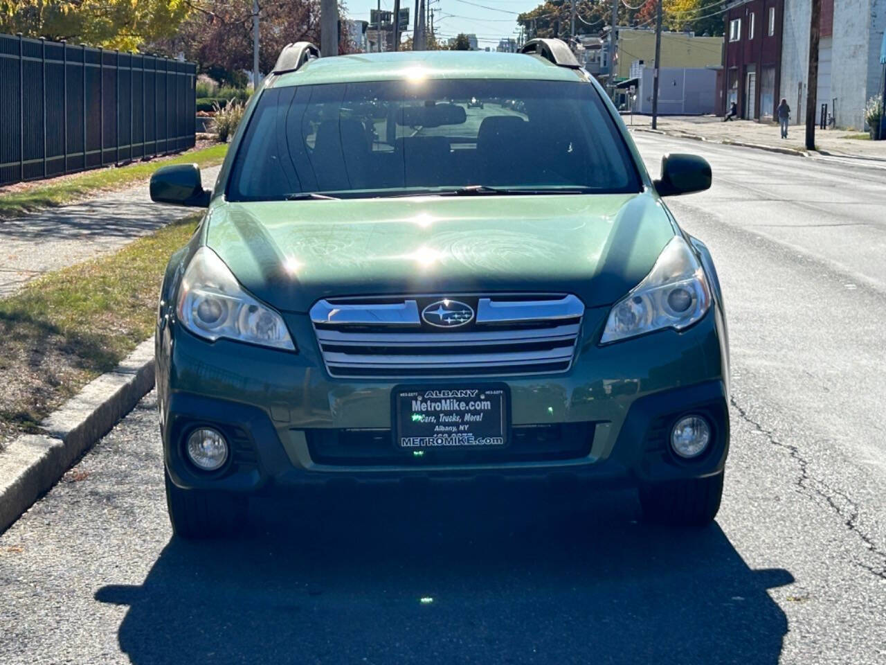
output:
[{"label": "green car roof between the roof rails, reflecting sun glare", "polygon": [[486,51],[397,51],[354,53],[309,60],[295,72],[282,74],[273,87],[391,81],[398,78],[522,79],[581,81],[575,69],[522,53]]}]

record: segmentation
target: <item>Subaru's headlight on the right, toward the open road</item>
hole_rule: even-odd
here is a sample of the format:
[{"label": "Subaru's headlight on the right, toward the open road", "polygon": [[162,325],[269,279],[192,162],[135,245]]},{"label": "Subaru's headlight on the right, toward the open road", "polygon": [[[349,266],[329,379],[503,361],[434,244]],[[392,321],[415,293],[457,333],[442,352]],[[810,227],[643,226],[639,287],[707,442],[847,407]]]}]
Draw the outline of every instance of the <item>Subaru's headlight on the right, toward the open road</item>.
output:
[{"label": "Subaru's headlight on the right, toward the open road", "polygon": [[696,323],[711,306],[711,292],[695,254],[680,236],[659,254],[649,275],[610,311],[601,344],[645,332]]}]

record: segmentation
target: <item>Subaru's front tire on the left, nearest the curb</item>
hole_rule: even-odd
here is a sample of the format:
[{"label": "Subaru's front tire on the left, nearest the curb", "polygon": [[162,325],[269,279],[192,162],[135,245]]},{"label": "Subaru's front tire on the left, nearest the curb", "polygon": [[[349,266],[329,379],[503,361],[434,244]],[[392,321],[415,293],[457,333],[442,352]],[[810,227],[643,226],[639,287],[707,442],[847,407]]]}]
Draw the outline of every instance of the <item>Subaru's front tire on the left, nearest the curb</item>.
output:
[{"label": "Subaru's front tire on the left, nearest the curb", "polygon": [[203,489],[181,489],[166,481],[167,510],[175,536],[181,538],[217,538],[236,535],[246,523],[248,499]]}]

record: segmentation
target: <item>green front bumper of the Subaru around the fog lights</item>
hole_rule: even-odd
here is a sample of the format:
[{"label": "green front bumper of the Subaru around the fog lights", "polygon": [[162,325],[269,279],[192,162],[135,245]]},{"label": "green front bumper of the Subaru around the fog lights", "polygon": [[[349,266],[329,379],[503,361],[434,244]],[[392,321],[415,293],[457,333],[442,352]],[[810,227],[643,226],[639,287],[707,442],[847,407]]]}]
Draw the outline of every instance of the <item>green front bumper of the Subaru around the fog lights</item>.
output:
[{"label": "green front bumper of the Subaru around the fog lights", "polygon": [[[513,426],[579,433],[587,437],[586,449],[566,456],[385,458],[377,464],[330,462],[318,446],[354,429],[390,436],[392,390],[426,380],[331,379],[315,344],[291,354],[226,340],[208,343],[168,323],[159,330],[157,357],[169,475],[183,488],[258,492],[342,480],[565,475],[637,483],[722,471],[729,441],[727,356],[716,309],[687,331],[606,347],[593,343],[605,312],[594,314],[586,312],[569,372],[471,381],[508,385]],[[296,339],[312,339],[307,317],[287,323]],[[713,442],[702,458],[686,461],[670,452],[668,437],[676,419],[690,412],[711,421]],[[221,429],[231,442],[231,460],[217,473],[199,473],[184,458],[183,440],[200,425]]]}]

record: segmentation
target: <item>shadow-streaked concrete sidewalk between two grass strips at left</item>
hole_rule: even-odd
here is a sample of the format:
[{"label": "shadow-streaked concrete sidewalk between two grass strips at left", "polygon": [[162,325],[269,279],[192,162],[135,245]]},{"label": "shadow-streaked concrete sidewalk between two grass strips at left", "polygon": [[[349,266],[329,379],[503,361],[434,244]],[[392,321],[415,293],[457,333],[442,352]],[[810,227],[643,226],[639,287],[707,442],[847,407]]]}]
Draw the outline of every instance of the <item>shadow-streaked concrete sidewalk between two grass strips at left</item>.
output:
[{"label": "shadow-streaked concrete sidewalk between two grass strips at left", "polygon": [[[203,169],[212,186],[220,166]],[[0,298],[44,272],[111,254],[197,208],[152,203],[148,184],[0,221]]]}]

